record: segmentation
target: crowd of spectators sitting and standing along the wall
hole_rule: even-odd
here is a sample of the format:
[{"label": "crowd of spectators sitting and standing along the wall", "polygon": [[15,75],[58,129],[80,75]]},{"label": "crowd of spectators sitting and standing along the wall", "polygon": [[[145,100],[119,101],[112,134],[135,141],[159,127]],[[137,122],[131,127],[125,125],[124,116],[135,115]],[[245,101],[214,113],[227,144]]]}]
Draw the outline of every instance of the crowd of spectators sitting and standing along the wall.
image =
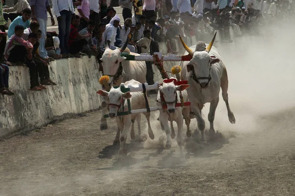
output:
[{"label": "crowd of spectators sitting and standing along the wall", "polygon": [[[14,95],[8,88],[12,65],[29,67],[29,90],[41,91],[47,89],[46,85],[56,85],[50,79],[48,65],[60,58],[96,56],[102,70],[99,59],[104,44],[114,50],[128,40],[130,52],[152,55],[159,52],[159,42],[164,42],[168,53],[177,54],[179,34],[192,45],[192,37],[207,42],[219,30],[221,41],[231,42],[231,27],[241,34],[258,33],[256,28],[264,25],[265,19],[282,18],[294,10],[292,0],[118,0],[118,3],[124,21],[120,21],[107,0],[52,0],[52,5],[49,0],[18,0],[13,7],[1,1],[0,93]],[[48,14],[52,25],[57,17],[59,33],[47,30]],[[147,82],[154,83],[150,62],[147,62]]]}]

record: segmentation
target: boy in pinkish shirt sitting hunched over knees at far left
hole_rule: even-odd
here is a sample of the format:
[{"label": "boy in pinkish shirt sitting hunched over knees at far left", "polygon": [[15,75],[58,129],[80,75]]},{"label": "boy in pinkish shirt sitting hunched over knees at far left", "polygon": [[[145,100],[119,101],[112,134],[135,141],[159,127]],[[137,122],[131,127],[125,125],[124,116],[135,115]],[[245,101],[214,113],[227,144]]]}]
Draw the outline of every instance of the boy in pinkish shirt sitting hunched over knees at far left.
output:
[{"label": "boy in pinkish shirt sitting hunched over knees at far left", "polygon": [[5,59],[8,62],[24,65],[27,59],[32,59],[33,45],[22,38],[24,27],[17,25],[14,34],[10,36],[5,46]]}]

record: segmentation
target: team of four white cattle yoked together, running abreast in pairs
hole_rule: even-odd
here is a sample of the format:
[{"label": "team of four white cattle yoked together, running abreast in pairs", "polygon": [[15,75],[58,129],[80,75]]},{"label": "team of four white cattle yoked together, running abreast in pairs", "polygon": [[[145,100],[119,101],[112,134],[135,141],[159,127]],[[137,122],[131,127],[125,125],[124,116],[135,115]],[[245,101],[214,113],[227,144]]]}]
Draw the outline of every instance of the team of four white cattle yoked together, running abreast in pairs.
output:
[{"label": "team of four white cattle yoked together, running abreast in pairs", "polygon": [[[204,135],[204,130],[205,130],[205,121],[202,118],[201,115],[201,110],[203,108],[203,105],[207,102],[210,102],[210,110],[208,114],[208,120],[210,122],[210,133],[214,133],[214,126],[213,126],[213,121],[214,121],[214,116],[215,116],[215,110],[219,101],[219,92],[220,92],[220,87],[222,89],[222,97],[226,103],[227,110],[228,110],[228,116],[229,116],[229,121],[231,123],[235,123],[235,117],[233,112],[230,109],[229,102],[228,102],[228,77],[227,77],[227,71],[225,65],[220,61],[220,55],[217,52],[215,47],[212,47],[214,39],[215,39],[216,33],[210,42],[210,44],[205,44],[203,41],[199,41],[197,45],[192,46],[189,48],[186,46],[186,44],[182,41],[181,37],[181,43],[185,50],[187,51],[185,55],[189,54],[192,56],[192,60],[189,62],[184,62],[182,64],[182,69],[181,69],[181,80],[187,80],[188,84],[190,84],[190,88],[187,89],[187,94],[188,94],[188,99],[191,102],[191,109],[194,112],[196,119],[198,121],[198,128],[201,131],[202,134],[202,141],[206,141],[205,135]],[[135,79],[136,81],[129,81],[131,83],[134,83],[134,85],[140,85],[141,83],[145,83],[145,76],[146,76],[146,65],[145,62],[132,62],[132,61],[124,61],[126,58],[121,57],[121,53],[126,49],[127,46],[127,41],[126,43],[117,50],[112,51],[109,49],[107,45],[105,45],[105,53],[103,54],[101,61],[103,62],[103,70],[105,75],[109,75],[110,77],[110,85],[118,86],[123,81],[129,81],[131,79]],[[206,48],[207,47],[207,48]],[[195,50],[195,51],[194,51]],[[132,55],[138,55],[135,53],[132,53]],[[119,65],[122,64],[123,67],[123,77],[120,77],[117,81],[114,81],[113,76],[116,75],[118,72],[118,67]],[[128,82],[127,82],[128,83]],[[126,84],[127,84],[126,83]],[[126,85],[125,84],[125,85]],[[172,91],[174,96],[172,96],[171,92],[169,92],[169,96],[165,97],[167,98],[167,102],[170,102],[170,98],[175,98],[177,90],[184,90],[186,88],[183,87],[176,87],[173,84],[167,84],[169,88],[174,89],[175,91]],[[165,85],[164,85],[165,86]],[[164,87],[163,86],[163,87]],[[167,86],[167,87],[168,87]],[[160,91],[164,91],[163,94],[165,94],[165,90],[163,87],[160,87]],[[107,90],[109,89],[109,86],[106,87]],[[167,88],[167,89],[169,89]],[[179,93],[179,92],[178,92]],[[110,107],[110,112],[109,115],[110,117],[114,118],[117,117],[117,112],[122,110],[122,103],[124,102],[123,100],[126,98],[131,98],[131,96],[134,97],[134,95],[137,95],[136,97],[141,97],[143,96],[142,93],[136,92],[136,93],[122,93],[119,91],[119,89],[114,89],[112,88],[111,91],[108,93],[107,91],[98,91],[98,94],[103,96],[104,99],[102,101],[102,114],[106,114],[107,110],[107,102],[109,102],[109,107]],[[115,96],[116,95],[116,96]],[[159,93],[158,93],[159,97]],[[141,98],[142,99],[142,98]],[[178,98],[178,100],[180,100]],[[144,105],[141,105],[140,103],[143,103]],[[168,104],[168,113],[169,109],[172,113],[172,109],[175,109],[175,105],[173,104]],[[145,108],[145,101],[139,102],[137,98],[133,98],[131,101],[131,107],[132,109],[140,109]],[[173,108],[174,107],[174,108]],[[124,108],[127,108],[125,106]],[[179,108],[180,109],[180,108]],[[177,110],[177,109],[176,109]],[[164,125],[164,128],[167,134],[167,144],[171,144],[170,141],[170,128],[168,126],[168,117],[165,117],[165,114],[167,112],[162,112],[160,111],[160,116],[159,119]],[[175,119],[179,121],[179,125],[177,123],[178,127],[178,134],[177,134],[177,143],[180,147],[180,150],[182,151],[182,138],[181,138],[181,131],[182,131],[182,124],[183,124],[183,117],[181,112],[177,111],[175,115]],[[148,134],[151,139],[154,138],[154,135],[152,133],[152,130],[150,128],[150,123],[149,123],[149,113],[145,113],[147,120],[148,120]],[[181,115],[181,117],[180,117]],[[139,116],[139,117],[138,117]],[[168,116],[168,115],[166,115]],[[140,119],[140,115],[127,115],[123,117],[118,117],[117,118],[117,123],[118,123],[118,131],[116,135],[116,139],[114,143],[118,142],[118,139],[120,140],[120,150],[119,153],[124,153],[124,145],[126,141],[126,135],[127,132],[130,128],[131,122],[134,123],[135,119]],[[120,120],[120,119],[123,119]],[[181,120],[180,120],[181,119]],[[131,121],[132,120],[132,121]],[[170,119],[174,120],[174,119]],[[181,123],[180,123],[181,121]],[[139,121],[139,134],[140,134],[140,123]],[[166,123],[167,122],[167,123]],[[125,127],[126,125],[126,127]],[[133,128],[133,126],[132,126]],[[106,119],[102,117],[101,119],[101,130],[107,129],[107,122]],[[121,135],[120,135],[120,131]],[[132,129],[131,136],[134,134],[134,129]],[[119,137],[120,135],[120,137]]]}]

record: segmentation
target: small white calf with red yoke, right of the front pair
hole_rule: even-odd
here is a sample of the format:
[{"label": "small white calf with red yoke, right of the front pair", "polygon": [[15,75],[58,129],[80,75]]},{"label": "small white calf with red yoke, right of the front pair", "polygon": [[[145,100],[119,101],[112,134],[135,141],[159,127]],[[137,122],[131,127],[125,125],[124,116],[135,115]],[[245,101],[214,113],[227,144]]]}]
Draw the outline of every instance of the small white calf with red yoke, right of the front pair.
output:
[{"label": "small white calf with red yoke, right of the front pair", "polygon": [[[171,78],[175,79],[175,78]],[[159,113],[159,121],[163,125],[164,130],[167,135],[166,148],[171,148],[171,138],[174,139],[175,131],[173,129],[173,121],[177,123],[177,144],[179,146],[180,154],[182,155],[182,130],[183,130],[183,117],[185,119],[185,124],[187,126],[187,131],[189,131],[190,117],[189,117],[189,106],[184,107],[175,107],[176,103],[180,103],[180,91],[182,91],[181,96],[183,101],[188,101],[187,93],[185,91],[190,85],[182,84],[176,86],[174,82],[165,83],[167,79],[163,80],[162,86],[159,86],[158,96],[157,96],[157,105],[166,104],[167,109],[161,109]],[[160,92],[163,93],[163,98],[165,102],[162,102],[160,97]],[[171,129],[168,125],[168,120],[171,122]]]}]

